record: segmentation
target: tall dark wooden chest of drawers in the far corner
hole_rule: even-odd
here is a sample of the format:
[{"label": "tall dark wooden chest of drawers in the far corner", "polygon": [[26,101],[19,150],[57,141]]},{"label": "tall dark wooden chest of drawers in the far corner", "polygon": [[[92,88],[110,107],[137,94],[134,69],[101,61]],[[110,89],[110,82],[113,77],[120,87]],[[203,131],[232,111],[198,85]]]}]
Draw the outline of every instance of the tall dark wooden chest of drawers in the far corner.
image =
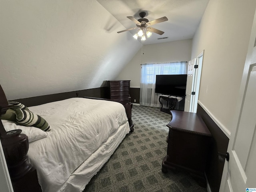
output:
[{"label": "tall dark wooden chest of drawers in the far corner", "polygon": [[109,98],[125,105],[130,97],[130,80],[108,81]]}]

